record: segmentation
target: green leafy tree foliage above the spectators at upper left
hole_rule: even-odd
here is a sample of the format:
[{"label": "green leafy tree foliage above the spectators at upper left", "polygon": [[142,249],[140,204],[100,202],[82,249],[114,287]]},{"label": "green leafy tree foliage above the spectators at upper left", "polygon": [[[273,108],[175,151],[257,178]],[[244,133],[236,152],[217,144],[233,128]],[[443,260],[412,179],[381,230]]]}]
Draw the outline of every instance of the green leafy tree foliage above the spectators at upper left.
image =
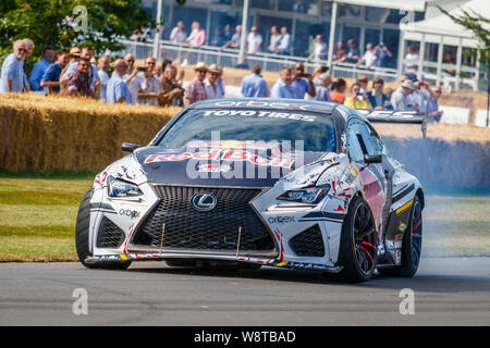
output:
[{"label": "green leafy tree foliage above the spectators at upper left", "polygon": [[156,27],[140,4],[142,0],[1,0],[0,59],[23,38],[36,45],[28,63],[39,59],[45,46],[90,45],[96,53],[118,51],[123,48],[119,38]]}]

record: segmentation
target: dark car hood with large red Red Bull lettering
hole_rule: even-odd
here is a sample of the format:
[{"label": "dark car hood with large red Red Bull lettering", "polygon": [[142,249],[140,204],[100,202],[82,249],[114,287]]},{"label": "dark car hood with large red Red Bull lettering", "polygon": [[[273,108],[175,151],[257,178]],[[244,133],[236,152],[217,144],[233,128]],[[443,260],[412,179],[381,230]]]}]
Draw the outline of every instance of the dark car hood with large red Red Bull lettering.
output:
[{"label": "dark car hood with large red Red Bull lettering", "polygon": [[272,187],[280,178],[324,152],[248,151],[237,148],[163,149],[145,147],[134,151],[149,183],[188,186]]}]

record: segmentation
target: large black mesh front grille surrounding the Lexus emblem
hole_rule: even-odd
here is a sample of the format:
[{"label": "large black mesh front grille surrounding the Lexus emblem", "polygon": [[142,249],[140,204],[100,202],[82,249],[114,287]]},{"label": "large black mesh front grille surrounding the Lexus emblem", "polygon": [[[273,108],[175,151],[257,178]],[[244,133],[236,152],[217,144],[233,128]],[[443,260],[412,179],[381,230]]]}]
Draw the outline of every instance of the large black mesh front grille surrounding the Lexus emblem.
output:
[{"label": "large black mesh front grille surrounding the Lexus emblem", "polygon": [[[240,251],[274,250],[271,235],[249,204],[260,189],[167,185],[156,185],[155,189],[160,202],[138,228],[134,246],[236,251],[241,227]],[[197,211],[191,206],[192,197],[199,192],[215,195],[217,204],[212,210]]]}]

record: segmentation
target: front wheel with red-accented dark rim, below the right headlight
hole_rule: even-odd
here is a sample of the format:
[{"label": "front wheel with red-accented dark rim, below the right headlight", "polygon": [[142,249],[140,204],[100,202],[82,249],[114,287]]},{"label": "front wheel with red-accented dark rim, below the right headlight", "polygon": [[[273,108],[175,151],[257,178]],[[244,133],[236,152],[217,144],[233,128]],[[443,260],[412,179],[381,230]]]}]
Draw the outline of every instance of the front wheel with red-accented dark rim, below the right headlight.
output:
[{"label": "front wheel with red-accented dark rim, below the right headlight", "polygon": [[375,220],[364,198],[355,196],[342,225],[338,265],[341,281],[364,283],[376,270],[377,233]]}]

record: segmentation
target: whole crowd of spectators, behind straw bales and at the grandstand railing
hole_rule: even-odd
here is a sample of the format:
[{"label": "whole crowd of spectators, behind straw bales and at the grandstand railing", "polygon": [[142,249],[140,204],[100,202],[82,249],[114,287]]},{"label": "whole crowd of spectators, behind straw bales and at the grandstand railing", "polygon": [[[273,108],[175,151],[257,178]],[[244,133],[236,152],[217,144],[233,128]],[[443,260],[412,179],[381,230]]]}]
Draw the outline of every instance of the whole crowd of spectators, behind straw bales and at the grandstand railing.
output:
[{"label": "whole crowd of spectators, behind straw bales and at the grandstand railing", "polygon": [[[175,40],[184,39],[184,35],[179,34],[179,30],[182,30],[180,26],[181,24],[173,33]],[[281,28],[281,33],[286,33],[285,30]],[[195,22],[193,34],[185,40],[200,41],[203,32]],[[235,35],[232,35],[230,27],[225,32],[233,40],[233,36],[240,34],[240,27],[236,28]],[[277,28],[271,28],[271,35],[279,35]],[[256,27],[252,28],[248,36],[247,49],[254,52],[262,42],[261,36]],[[275,37],[268,50],[280,52],[283,38],[284,34]],[[320,39],[317,37],[318,44],[321,44]],[[367,45],[366,53],[360,58],[353,40],[350,40],[347,46],[350,50],[342,51],[343,44],[339,41],[336,54],[345,53],[340,60],[376,63],[376,59],[368,55],[376,55],[373,53],[376,48],[371,45]],[[132,53],[112,62],[107,55],[101,55],[96,61],[94,50],[89,46],[58,51],[52,47],[46,47],[42,50],[42,58],[34,65],[30,75],[27,75],[25,59],[32,54],[33,49],[34,42],[29,39],[14,42],[12,53],[4,59],[1,67],[0,92],[32,90],[99,99],[108,103],[124,102],[154,107],[188,105],[200,100],[225,96],[223,69],[217,64],[210,66],[203,62],[196,64],[195,76],[184,88],[184,72],[179,71],[171,61],[158,64],[154,57],[147,57],[140,66],[136,66]],[[320,54],[323,50],[324,48],[318,49],[314,54]],[[395,90],[385,88],[384,80],[379,77],[369,85],[367,75],[357,76],[347,88],[346,80],[333,79],[327,66],[318,66],[313,73],[306,73],[304,63],[296,62],[294,66],[285,66],[280,72],[278,80],[269,90],[266,79],[261,76],[260,65],[255,65],[252,74],[243,78],[241,91],[244,97],[315,99],[342,103],[355,109],[415,110],[427,113],[431,121],[439,121],[442,116],[438,105],[441,88],[433,88],[426,82],[417,80],[414,73],[403,75]]]}]

